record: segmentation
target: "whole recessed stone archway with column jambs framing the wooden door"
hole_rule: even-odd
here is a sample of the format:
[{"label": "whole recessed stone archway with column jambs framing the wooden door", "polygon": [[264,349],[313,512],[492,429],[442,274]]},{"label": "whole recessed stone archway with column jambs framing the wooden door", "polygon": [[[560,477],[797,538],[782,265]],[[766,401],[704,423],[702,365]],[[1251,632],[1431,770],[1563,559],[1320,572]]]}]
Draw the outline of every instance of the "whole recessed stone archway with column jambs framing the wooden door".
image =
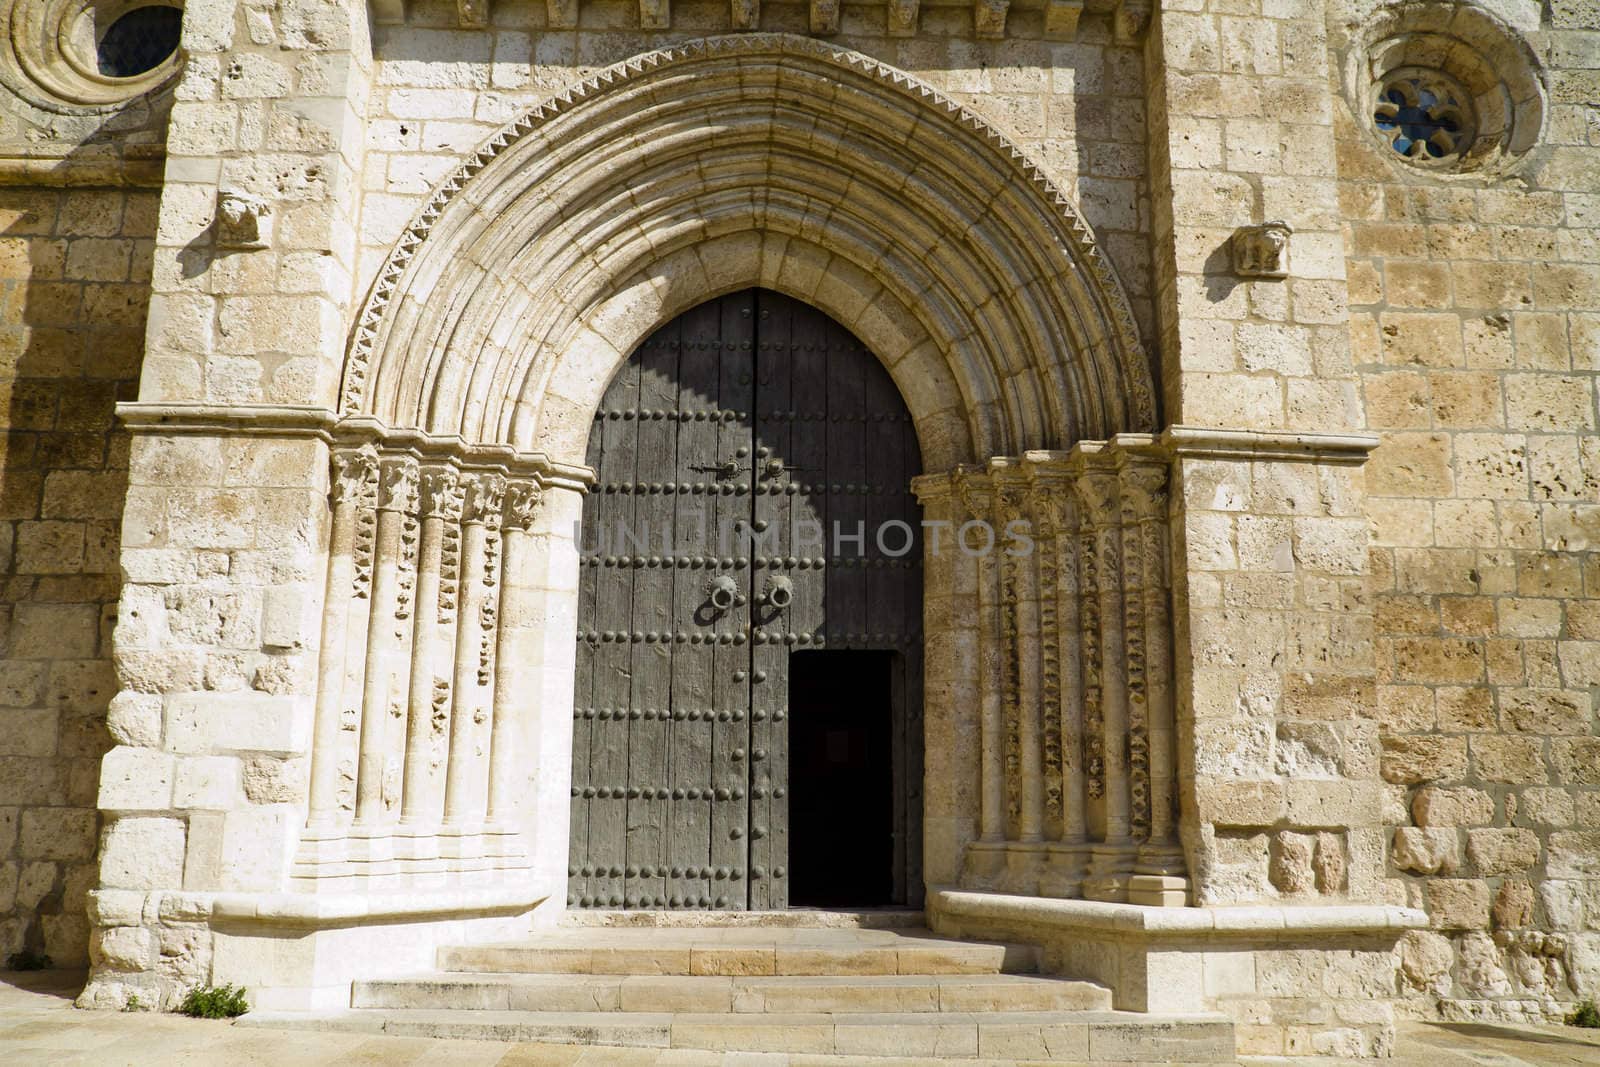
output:
[{"label": "whole recessed stone archway with column jambs framing the wooden door", "polygon": [[[1150,838],[1149,817],[1152,795],[1176,805],[1165,777],[1150,789],[1152,773],[1171,776],[1170,701],[1165,710],[1149,705],[1144,664],[1130,664],[1122,651],[1144,648],[1126,640],[1133,627],[1165,649],[1155,629],[1165,632],[1170,617],[1158,531],[1165,462],[1152,451],[1155,390],[1128,301],[1077,211],[1010,141],[912,77],[811,38],[709,38],[598,72],[496,133],[402,234],[347,354],[341,422],[381,440],[378,454],[336,454],[346,480],[334,510],[338,523],[344,509],[346,526],[336,533],[352,555],[339,563],[336,537],[330,582],[360,582],[371,571],[370,595],[392,595],[379,584],[382,557],[395,552],[406,609],[413,590],[419,601],[437,597],[434,571],[446,574],[446,585],[459,571],[462,590],[488,581],[502,590],[496,595],[515,590],[518,598],[502,601],[498,637],[496,619],[482,608],[469,619],[462,598],[459,619],[430,622],[426,637],[406,635],[395,648],[390,635],[406,627],[373,629],[382,646],[366,649],[366,664],[390,681],[365,685],[363,721],[394,707],[402,678],[414,689],[435,677],[416,656],[443,656],[430,651],[438,648],[459,656],[466,630],[474,649],[498,640],[493,654],[482,653],[477,680],[454,667],[459,685],[478,686],[488,710],[482,729],[491,755],[478,757],[486,769],[454,768],[456,745],[448,745],[445,776],[466,784],[486,776],[490,808],[501,805],[490,813],[491,824],[499,819],[491,829],[526,830],[523,843],[475,843],[477,854],[491,857],[502,877],[530,877],[552,901],[565,899],[578,573],[571,530],[581,512],[570,474],[584,461],[606,382],[634,347],[680,312],[752,285],[819,307],[885,363],[917,424],[930,470],[917,486],[930,517],[1003,523],[1022,515],[1050,531],[1050,560],[1022,568],[936,557],[930,547],[928,880],[1069,896],[1091,885],[1106,899],[1130,899],[1130,880],[1142,872],[1168,877],[1160,885],[1171,896],[1170,877],[1182,859],[1170,840]],[[390,454],[390,438],[411,442],[410,451]],[[416,442],[526,458],[526,477],[542,488],[536,515],[498,512],[499,475],[459,462],[454,474],[430,470],[437,462]],[[502,474],[517,482],[515,470]],[[1072,486],[1085,478],[1094,493],[1075,504]],[[466,504],[451,488],[458,485],[466,485]],[[526,504],[528,494],[517,499]],[[363,534],[368,512],[376,536]],[[474,515],[478,531],[469,533]],[[430,534],[435,520],[442,526]],[[451,557],[448,531],[456,528],[462,533]],[[512,530],[518,533],[507,539]],[[1093,617],[1080,616],[1080,545],[1110,549],[1125,537],[1138,542],[1138,563],[1130,563],[1138,595],[1102,605],[1094,593]],[[514,550],[502,552],[501,541]],[[1115,566],[1101,558],[1096,571],[1107,597],[1122,581]],[[328,592],[330,605],[347,600],[342,585]],[[426,603],[416,613],[432,617]],[[328,625],[330,637],[354,633],[339,619]],[[1098,641],[1099,627],[1115,632],[1115,649],[1102,657],[1062,662],[1051,646]],[[421,622],[413,629],[424,633]],[[336,645],[325,641],[325,657],[341,654],[328,651]],[[347,661],[357,654],[355,646],[342,653]],[[496,673],[496,656],[504,670],[510,657],[523,664],[517,685],[496,681],[509,677]],[[1016,665],[994,680],[998,701],[973,693],[981,656]],[[323,664],[323,685],[346,678],[349,689],[350,675],[347,665]],[[1134,773],[1112,774],[1125,790],[1118,797],[1062,797],[1061,782],[1077,781],[1062,779],[1062,765],[1082,758],[1062,747],[1062,717],[1077,713],[1082,689],[1107,686],[1120,702],[1106,729],[1131,721],[1144,733],[1134,729],[1131,753],[1125,737],[1082,744],[1118,768],[1131,760]],[[416,715],[437,694],[410,696]],[[320,701],[318,747],[322,739],[357,744],[341,734],[339,707]],[[971,744],[979,734],[981,750]],[[1166,747],[1152,769],[1157,734]],[[1074,728],[1072,737],[1080,736]],[[413,742],[429,742],[427,729],[347,757],[358,768],[357,822],[363,808],[389,817],[378,814],[387,811],[386,776],[410,789],[405,768],[427,765]],[[526,755],[517,763],[526,773],[493,755],[502,742]],[[307,827],[307,848],[302,848],[298,869],[307,878],[349,870],[349,840],[362,837],[346,833],[347,813],[331,800],[338,763],[320,763],[326,789],[322,808],[314,795]],[[430,822],[432,798],[448,782],[435,787],[424,769],[416,774],[427,798],[422,821]],[[517,798],[514,816],[509,798]],[[1078,817],[1064,819],[1064,809]],[[410,811],[410,800],[395,811]],[[467,814],[470,822],[482,813]],[[1154,819],[1168,830],[1171,822]],[[1082,848],[1056,864],[1053,878],[1046,845],[1059,843],[1067,827],[1077,827]],[[986,846],[968,848],[979,835]],[[1093,851],[1093,843],[1104,848]],[[403,873],[403,864],[384,862]]]}]

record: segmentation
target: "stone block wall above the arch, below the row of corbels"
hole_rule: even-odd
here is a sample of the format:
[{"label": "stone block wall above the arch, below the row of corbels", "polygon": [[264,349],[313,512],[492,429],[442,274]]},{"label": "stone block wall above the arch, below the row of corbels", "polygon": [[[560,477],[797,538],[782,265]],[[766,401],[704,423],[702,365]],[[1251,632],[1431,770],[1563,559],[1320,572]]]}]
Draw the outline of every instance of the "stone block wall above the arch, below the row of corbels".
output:
[{"label": "stone block wall above the arch, below the row of corbels", "polygon": [[[1093,6],[1093,5],[1090,5]],[[808,34],[802,3],[763,3],[760,29]],[[582,77],[669,43],[733,32],[725,0],[672,3],[672,29],[638,29],[638,3],[584,0],[579,29],[547,30],[542,0],[498,0],[493,26],[456,27],[456,5],[410,3],[376,26],[358,290],[365,293],[429,187],[517,114]],[[1144,82],[1138,42],[1085,11],[1074,40],[1046,40],[1043,11],[974,40],[970,6],[923,6],[915,37],[890,37],[883,5],[842,5],[827,40],[899,67],[966,104],[1040,162],[1070,195],[1152,336]]]}]

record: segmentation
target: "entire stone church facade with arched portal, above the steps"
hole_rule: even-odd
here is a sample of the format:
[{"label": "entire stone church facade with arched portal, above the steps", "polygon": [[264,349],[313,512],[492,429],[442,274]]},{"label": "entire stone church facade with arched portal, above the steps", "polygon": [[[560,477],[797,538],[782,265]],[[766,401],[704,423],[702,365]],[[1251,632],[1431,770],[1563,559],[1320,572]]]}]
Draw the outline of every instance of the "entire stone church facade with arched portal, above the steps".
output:
[{"label": "entire stone church facade with arched portal, above the steps", "polygon": [[1590,0],[0,14],[0,950],[85,1005],[803,904],[840,648],[864,902],[1242,1053],[1600,993]]}]

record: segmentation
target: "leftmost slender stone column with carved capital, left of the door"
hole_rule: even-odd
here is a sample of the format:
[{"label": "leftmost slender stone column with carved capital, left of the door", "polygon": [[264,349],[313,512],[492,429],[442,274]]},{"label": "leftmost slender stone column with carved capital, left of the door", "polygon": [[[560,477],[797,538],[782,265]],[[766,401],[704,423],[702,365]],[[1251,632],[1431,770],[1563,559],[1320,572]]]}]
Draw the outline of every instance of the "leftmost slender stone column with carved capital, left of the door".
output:
[{"label": "leftmost slender stone column with carved capital, left of the door", "polygon": [[355,595],[355,541],[362,506],[378,502],[378,453],[358,448],[333,454],[333,517],[328,530],[328,584],[317,654],[317,718],[310,750],[310,827],[341,821],[339,733],[344,704],[344,657]]}]

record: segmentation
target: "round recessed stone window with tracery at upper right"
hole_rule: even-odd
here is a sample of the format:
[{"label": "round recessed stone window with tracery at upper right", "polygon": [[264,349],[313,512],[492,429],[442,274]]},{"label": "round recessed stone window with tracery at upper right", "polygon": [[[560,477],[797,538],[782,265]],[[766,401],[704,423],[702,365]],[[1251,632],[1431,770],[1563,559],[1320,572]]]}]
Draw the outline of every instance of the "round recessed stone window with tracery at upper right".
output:
[{"label": "round recessed stone window with tracery at upper right", "polygon": [[1346,85],[1390,158],[1442,178],[1504,173],[1544,128],[1533,50],[1474,3],[1379,10],[1349,40]]}]

